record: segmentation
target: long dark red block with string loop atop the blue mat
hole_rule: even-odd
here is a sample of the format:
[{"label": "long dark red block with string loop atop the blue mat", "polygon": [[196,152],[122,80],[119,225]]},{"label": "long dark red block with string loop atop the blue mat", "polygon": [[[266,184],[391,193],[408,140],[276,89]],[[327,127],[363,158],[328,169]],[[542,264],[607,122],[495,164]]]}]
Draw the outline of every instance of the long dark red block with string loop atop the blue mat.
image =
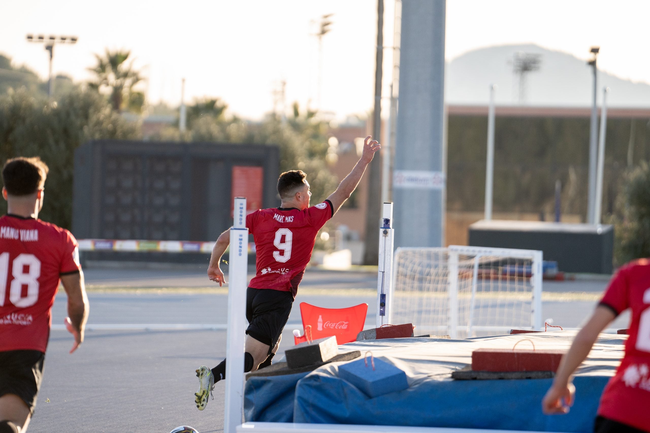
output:
[{"label": "long dark red block with string loop atop the blue mat", "polygon": [[522,349],[476,349],[474,371],[557,371],[564,352]]}]

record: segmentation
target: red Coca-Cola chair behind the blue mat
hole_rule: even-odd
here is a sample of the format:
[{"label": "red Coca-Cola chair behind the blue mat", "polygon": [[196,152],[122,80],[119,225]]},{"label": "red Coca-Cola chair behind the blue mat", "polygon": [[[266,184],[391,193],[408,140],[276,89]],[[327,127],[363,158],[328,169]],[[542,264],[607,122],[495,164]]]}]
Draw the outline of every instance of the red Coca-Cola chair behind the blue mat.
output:
[{"label": "red Coca-Cola chair behind the blue mat", "polygon": [[363,330],[368,304],[359,304],[347,308],[322,308],[307,303],[300,303],[300,315],[304,334],[294,330],[293,340],[296,344],[307,340],[336,336],[339,344],[357,340],[357,334]]}]

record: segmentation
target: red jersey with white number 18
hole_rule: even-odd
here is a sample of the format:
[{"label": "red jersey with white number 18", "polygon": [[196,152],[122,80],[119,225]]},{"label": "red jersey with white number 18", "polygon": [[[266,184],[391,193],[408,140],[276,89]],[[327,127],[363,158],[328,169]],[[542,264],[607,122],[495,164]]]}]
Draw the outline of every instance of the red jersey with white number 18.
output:
[{"label": "red jersey with white number 18", "polygon": [[0,352],[45,353],[60,276],[79,271],[68,230],[40,219],[0,218]]}]

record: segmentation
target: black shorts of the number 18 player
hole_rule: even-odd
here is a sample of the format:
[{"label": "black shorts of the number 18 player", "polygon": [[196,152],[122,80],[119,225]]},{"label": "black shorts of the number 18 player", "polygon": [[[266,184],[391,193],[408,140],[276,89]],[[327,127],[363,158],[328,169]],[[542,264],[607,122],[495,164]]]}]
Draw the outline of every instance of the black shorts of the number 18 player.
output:
[{"label": "black shorts of the number 18 player", "polygon": [[45,354],[39,351],[0,352],[0,396],[18,395],[34,414],[44,361]]}]

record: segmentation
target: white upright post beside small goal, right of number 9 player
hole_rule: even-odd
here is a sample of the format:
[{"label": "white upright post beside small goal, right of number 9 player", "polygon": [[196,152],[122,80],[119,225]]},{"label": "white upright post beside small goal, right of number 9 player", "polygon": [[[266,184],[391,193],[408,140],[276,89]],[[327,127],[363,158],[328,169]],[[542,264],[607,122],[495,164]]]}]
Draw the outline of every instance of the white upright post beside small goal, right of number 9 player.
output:
[{"label": "white upright post beside small goal, right of number 9 player", "polygon": [[384,203],[379,229],[379,266],[377,272],[377,327],[391,325],[393,306],[393,203]]}]

